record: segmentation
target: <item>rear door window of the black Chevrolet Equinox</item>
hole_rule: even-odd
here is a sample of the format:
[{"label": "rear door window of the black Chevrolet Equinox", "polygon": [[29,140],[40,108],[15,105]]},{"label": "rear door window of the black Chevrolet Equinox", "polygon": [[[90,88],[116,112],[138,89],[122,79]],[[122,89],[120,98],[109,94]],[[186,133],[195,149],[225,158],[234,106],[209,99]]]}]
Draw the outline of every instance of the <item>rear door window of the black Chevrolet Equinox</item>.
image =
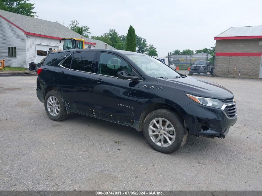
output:
[{"label": "rear door window of the black Chevrolet Equinox", "polygon": [[76,52],[73,54],[73,60],[71,63],[71,69],[91,72],[92,64],[95,62],[96,52]]}]

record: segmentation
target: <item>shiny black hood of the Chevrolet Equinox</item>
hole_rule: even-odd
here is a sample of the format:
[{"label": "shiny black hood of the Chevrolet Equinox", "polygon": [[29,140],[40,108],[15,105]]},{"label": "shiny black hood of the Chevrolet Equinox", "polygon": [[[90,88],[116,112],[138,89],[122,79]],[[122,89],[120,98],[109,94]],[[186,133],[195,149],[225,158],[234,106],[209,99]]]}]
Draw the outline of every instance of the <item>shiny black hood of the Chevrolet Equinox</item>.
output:
[{"label": "shiny black hood of the Chevrolet Equinox", "polygon": [[183,89],[185,93],[199,97],[226,99],[232,98],[233,93],[214,82],[187,76],[185,78],[163,79],[155,78],[156,81]]}]

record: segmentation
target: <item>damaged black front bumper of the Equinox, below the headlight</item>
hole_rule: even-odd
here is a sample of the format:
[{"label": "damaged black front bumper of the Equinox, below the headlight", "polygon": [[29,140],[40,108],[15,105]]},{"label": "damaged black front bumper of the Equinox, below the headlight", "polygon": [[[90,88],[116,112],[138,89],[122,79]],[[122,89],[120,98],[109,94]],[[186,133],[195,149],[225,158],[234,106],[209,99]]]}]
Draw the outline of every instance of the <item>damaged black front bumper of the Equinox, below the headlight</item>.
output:
[{"label": "damaged black front bumper of the Equinox, below the headlight", "polygon": [[237,121],[237,116],[229,118],[223,110],[207,107],[197,102],[189,103],[183,107],[185,123],[189,133],[206,137],[224,138]]}]

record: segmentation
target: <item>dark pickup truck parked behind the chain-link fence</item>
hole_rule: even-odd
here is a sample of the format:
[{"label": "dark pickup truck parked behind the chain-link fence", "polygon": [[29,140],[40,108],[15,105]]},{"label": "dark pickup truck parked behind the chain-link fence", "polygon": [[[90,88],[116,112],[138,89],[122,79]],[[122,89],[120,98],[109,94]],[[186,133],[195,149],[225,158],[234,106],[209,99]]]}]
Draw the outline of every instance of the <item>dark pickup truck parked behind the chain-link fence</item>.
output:
[{"label": "dark pickup truck parked behind the chain-link fence", "polygon": [[209,61],[197,61],[190,68],[189,74],[197,73],[197,74],[207,74],[210,73],[213,75],[214,65],[211,65]]}]

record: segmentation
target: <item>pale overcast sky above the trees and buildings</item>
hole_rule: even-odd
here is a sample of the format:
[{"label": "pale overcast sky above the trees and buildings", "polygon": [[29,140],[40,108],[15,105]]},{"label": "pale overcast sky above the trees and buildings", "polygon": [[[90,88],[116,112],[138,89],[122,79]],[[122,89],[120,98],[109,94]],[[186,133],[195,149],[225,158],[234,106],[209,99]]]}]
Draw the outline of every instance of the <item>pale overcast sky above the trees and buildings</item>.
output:
[{"label": "pale overcast sky above the trees and buildings", "polygon": [[157,47],[158,56],[175,49],[202,49],[214,46],[214,37],[230,27],[262,25],[262,1],[155,1],[155,0],[30,0],[38,18],[70,20],[87,25],[91,35],[110,28],[126,34],[129,25],[135,33]]}]

